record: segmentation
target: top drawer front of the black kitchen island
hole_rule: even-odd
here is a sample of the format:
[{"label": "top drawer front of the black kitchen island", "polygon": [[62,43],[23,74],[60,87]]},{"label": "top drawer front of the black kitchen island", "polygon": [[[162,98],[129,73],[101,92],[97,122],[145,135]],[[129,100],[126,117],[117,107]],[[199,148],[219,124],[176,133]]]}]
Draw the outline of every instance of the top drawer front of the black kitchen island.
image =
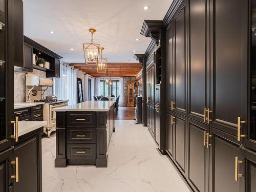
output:
[{"label": "top drawer front of the black kitchen island", "polygon": [[95,112],[68,112],[68,126],[95,127]]}]

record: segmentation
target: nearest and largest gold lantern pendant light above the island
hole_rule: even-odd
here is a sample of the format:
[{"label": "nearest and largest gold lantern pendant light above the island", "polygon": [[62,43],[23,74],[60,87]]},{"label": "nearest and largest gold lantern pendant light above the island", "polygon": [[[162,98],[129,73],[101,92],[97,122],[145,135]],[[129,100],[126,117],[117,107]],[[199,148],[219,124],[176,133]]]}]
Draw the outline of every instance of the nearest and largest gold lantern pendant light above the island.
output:
[{"label": "nearest and largest gold lantern pendant light above the island", "polygon": [[92,34],[91,43],[90,44],[82,44],[83,46],[83,54],[84,60],[86,61],[87,65],[97,65],[98,58],[99,58],[99,44],[93,43],[93,33],[96,32],[96,29],[89,29],[90,33]]}]

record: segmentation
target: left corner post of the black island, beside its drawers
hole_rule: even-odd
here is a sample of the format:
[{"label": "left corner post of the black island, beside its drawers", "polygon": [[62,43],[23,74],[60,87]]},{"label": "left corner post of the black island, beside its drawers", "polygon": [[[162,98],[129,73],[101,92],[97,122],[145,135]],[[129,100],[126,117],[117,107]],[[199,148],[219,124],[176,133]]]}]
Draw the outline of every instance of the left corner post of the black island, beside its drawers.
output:
[{"label": "left corner post of the black island, beside its drawers", "polygon": [[56,159],[55,167],[67,166],[66,154],[66,112],[56,112]]}]

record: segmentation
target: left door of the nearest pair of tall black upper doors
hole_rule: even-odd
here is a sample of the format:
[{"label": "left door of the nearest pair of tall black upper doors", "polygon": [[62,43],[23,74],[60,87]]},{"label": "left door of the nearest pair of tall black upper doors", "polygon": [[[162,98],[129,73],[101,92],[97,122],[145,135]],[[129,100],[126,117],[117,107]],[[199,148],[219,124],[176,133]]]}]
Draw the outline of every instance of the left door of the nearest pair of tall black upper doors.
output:
[{"label": "left door of the nearest pair of tall black upper doors", "polygon": [[190,1],[190,56],[188,65],[188,117],[204,122],[209,108],[207,10],[205,0]]}]

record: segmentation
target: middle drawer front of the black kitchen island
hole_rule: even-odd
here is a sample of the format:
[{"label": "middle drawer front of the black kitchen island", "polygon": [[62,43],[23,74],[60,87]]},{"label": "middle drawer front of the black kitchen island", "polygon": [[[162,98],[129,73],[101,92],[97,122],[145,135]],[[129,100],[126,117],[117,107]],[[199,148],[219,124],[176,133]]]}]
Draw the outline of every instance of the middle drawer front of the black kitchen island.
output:
[{"label": "middle drawer front of the black kitchen island", "polygon": [[69,143],[96,143],[95,127],[68,127]]}]

